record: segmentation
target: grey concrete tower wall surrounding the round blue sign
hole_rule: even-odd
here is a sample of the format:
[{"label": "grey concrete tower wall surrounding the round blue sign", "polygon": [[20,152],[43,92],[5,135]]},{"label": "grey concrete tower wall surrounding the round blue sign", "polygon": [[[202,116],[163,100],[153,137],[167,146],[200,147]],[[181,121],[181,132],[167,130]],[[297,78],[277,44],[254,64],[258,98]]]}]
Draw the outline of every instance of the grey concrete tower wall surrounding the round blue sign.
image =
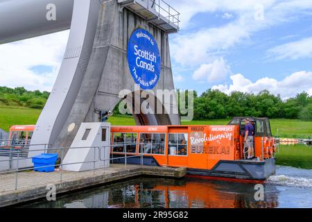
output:
[{"label": "grey concrete tower wall surrounding the round blue sign", "polygon": [[[95,110],[113,110],[121,100],[119,92],[122,89],[135,91],[135,81],[128,68],[127,46],[130,35],[137,28],[145,28],[152,33],[161,53],[162,73],[154,91],[174,89],[168,34],[151,26],[133,12],[119,8],[117,1],[103,1],[87,71],[55,146],[70,146],[80,123],[99,121],[99,115]],[[140,124],[138,117],[135,116],[135,120]],[[153,114],[141,117],[146,119],[147,125],[180,124],[180,117],[177,114]],[[67,128],[71,123],[75,123],[75,128],[68,133]]]}]

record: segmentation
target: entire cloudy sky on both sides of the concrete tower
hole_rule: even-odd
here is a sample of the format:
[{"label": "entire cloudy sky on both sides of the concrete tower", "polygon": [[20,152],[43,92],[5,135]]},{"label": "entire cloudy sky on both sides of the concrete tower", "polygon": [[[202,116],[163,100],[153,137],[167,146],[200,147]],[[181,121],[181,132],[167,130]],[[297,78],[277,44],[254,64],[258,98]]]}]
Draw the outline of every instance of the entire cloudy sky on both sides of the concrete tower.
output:
[{"label": "entire cloudy sky on both sides of the concrete tower", "polygon": [[[178,89],[312,95],[311,0],[166,0]],[[0,45],[0,85],[51,91],[69,31]]]}]

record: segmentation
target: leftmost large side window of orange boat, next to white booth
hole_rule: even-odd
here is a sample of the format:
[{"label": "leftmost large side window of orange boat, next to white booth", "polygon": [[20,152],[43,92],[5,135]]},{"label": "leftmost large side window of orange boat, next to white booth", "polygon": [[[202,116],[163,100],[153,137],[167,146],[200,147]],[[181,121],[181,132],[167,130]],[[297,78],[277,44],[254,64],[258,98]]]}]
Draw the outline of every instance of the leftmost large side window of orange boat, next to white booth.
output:
[{"label": "leftmost large side window of orange boat, next to white booth", "polygon": [[114,153],[136,153],[137,133],[114,133],[112,145]]}]

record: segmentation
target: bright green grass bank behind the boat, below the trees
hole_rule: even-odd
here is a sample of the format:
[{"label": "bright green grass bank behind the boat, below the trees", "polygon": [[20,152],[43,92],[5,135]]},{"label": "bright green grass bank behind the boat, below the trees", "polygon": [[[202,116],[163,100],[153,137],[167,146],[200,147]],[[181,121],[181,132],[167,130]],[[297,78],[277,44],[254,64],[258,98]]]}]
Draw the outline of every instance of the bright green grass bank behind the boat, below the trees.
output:
[{"label": "bright green grass bank behind the boat, below the trees", "polygon": [[[8,131],[12,125],[35,124],[41,110],[0,106],[0,128]],[[132,126],[135,121],[129,116],[110,117],[109,121],[115,126]],[[184,125],[224,125],[228,123],[228,119],[223,120],[207,120],[207,121],[191,121],[184,122]],[[271,119],[271,128],[273,135],[289,138],[306,138],[312,137],[312,121],[301,121],[297,119]]]}]

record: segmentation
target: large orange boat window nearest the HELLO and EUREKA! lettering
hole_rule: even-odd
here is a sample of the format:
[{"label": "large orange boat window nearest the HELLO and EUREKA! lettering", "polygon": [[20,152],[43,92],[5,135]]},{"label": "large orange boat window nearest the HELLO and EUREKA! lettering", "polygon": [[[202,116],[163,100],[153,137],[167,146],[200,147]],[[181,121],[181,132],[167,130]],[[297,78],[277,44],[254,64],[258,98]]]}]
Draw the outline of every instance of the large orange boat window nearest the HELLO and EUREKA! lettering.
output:
[{"label": "large orange boat window nearest the HELLO and EUREKA! lettering", "polygon": [[168,154],[187,155],[187,133],[169,134]]}]

